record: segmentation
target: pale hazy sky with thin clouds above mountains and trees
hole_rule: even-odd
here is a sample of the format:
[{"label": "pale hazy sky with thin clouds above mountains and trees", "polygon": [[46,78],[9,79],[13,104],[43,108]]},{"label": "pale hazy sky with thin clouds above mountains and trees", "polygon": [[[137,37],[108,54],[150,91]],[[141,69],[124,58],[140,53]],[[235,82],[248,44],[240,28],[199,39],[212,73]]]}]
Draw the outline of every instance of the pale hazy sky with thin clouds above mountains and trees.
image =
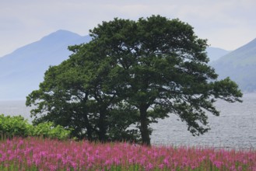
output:
[{"label": "pale hazy sky with thin clouds above mountains and trees", "polygon": [[178,18],[212,47],[234,50],[256,38],[255,0],[1,0],[0,57],[56,30],[85,36],[114,17]]}]

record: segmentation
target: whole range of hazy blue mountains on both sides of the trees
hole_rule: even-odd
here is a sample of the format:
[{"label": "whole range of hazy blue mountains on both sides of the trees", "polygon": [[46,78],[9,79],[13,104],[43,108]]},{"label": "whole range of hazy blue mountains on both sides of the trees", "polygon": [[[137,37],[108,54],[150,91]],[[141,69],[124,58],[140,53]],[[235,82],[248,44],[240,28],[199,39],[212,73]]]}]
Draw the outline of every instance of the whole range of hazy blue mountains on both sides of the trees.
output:
[{"label": "whole range of hazy blue mountains on both sides of the trees", "polygon": [[[0,58],[0,100],[25,99],[44,80],[50,65],[72,54],[68,46],[88,43],[89,36],[58,30]],[[208,47],[209,65],[219,78],[230,76],[244,91],[256,90],[256,39],[235,51]]]}]

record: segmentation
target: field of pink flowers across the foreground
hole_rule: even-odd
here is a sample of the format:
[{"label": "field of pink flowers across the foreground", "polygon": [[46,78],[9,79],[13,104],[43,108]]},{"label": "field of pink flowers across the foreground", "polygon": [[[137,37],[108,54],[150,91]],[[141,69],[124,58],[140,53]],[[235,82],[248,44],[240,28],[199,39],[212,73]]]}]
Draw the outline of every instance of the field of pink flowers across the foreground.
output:
[{"label": "field of pink flowers across the foreground", "polygon": [[256,171],[256,151],[13,138],[0,141],[0,170]]}]

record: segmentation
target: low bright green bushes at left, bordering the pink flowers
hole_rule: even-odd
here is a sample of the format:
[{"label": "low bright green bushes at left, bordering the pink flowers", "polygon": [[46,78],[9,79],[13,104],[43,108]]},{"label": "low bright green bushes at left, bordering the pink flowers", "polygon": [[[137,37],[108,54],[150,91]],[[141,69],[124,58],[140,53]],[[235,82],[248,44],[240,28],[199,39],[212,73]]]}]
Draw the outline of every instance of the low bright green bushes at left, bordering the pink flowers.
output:
[{"label": "low bright green bushes at left, bordering the pink flowers", "polygon": [[60,140],[69,138],[71,130],[60,125],[54,126],[51,122],[41,123],[33,126],[22,116],[0,115],[0,139],[13,137],[38,136],[44,138],[58,138]]}]

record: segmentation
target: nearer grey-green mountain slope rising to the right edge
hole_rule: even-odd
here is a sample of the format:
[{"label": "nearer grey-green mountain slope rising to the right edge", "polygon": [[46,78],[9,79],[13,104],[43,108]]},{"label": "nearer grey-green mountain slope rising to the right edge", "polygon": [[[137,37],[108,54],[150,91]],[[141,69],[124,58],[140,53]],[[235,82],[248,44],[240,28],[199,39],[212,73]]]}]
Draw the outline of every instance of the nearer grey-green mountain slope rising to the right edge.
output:
[{"label": "nearer grey-green mountain slope rising to the right edge", "polygon": [[244,92],[256,91],[256,39],[212,62],[219,78],[227,76]]}]

